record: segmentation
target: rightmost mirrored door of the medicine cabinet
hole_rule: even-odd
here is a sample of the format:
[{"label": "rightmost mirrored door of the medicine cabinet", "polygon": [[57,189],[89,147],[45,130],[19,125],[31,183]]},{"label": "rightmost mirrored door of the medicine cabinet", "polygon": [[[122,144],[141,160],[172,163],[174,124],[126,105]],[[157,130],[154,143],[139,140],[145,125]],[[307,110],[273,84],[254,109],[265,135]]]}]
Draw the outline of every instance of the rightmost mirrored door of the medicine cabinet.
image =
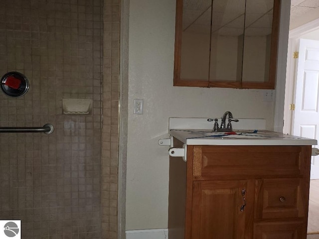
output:
[{"label": "rightmost mirrored door of the medicine cabinet", "polygon": [[278,0],[246,0],[243,88],[274,89],[278,24]]}]

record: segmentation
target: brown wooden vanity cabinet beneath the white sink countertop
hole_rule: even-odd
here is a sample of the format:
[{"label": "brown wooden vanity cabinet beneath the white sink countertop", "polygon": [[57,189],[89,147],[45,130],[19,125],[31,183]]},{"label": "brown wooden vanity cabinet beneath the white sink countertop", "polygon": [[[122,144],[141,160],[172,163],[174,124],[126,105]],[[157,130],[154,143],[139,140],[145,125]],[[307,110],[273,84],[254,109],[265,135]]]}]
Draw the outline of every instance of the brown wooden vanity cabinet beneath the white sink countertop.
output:
[{"label": "brown wooden vanity cabinet beneath the white sink countertop", "polygon": [[[174,142],[177,140],[174,140]],[[187,145],[170,158],[173,239],[306,239],[311,146]]]}]

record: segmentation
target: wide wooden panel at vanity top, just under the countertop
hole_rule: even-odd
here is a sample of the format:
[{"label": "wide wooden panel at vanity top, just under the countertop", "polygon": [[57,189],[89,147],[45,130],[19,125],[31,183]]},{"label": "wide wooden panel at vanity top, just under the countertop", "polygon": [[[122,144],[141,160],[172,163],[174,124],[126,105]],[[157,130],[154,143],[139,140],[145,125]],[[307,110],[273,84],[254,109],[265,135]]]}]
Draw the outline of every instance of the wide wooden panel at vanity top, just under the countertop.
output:
[{"label": "wide wooden panel at vanity top, just under the countertop", "polygon": [[305,146],[193,146],[193,176],[300,175]]}]

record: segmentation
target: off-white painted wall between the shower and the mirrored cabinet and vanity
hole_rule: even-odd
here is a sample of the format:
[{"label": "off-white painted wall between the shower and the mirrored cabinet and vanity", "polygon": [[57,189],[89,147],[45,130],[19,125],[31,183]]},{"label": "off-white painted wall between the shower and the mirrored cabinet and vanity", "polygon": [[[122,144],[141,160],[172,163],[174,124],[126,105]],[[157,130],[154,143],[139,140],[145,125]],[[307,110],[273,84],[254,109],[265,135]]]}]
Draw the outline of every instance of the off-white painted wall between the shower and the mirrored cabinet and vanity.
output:
[{"label": "off-white painted wall between the shower and the mirrored cabinet and vanity", "polygon": [[[173,87],[175,3],[130,0],[129,123],[126,229],[167,228],[169,117],[265,118],[273,128],[274,103],[262,91]],[[144,114],[133,100],[144,99]],[[234,124],[234,127],[236,124]]]}]

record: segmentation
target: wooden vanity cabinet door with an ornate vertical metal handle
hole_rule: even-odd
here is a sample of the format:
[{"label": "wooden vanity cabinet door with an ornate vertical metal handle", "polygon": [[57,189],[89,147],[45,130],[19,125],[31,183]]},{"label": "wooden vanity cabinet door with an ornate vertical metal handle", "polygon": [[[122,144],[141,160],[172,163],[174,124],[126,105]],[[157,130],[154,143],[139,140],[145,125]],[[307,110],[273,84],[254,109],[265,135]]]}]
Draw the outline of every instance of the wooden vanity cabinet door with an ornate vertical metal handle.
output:
[{"label": "wooden vanity cabinet door with an ornate vertical metal handle", "polygon": [[[192,239],[243,239],[247,181],[195,181],[193,183]],[[244,191],[243,191],[244,190]]]}]

